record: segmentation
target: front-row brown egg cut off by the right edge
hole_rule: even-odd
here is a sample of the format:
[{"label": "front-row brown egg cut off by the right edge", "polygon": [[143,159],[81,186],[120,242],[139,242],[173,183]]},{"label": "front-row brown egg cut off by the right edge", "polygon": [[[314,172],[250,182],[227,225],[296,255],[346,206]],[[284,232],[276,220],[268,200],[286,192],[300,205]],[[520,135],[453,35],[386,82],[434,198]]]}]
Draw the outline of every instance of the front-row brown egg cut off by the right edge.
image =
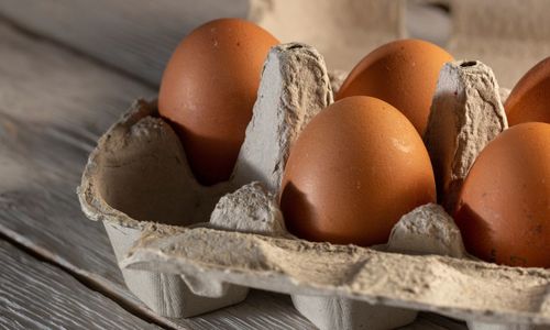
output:
[{"label": "front-row brown egg cut off by the right edge", "polygon": [[464,182],[454,219],[473,255],[550,267],[550,124],[518,124],[487,144]]}]

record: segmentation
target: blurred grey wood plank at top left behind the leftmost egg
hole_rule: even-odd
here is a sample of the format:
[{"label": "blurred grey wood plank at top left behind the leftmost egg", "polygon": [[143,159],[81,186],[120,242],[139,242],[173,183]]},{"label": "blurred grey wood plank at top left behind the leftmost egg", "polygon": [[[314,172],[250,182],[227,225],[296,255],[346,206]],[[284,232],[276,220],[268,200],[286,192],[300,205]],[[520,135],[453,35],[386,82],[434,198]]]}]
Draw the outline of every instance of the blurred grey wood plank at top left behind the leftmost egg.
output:
[{"label": "blurred grey wood plank at top left behind the leftmost egg", "polygon": [[248,0],[2,0],[0,14],[151,84],[191,29],[244,18]]}]

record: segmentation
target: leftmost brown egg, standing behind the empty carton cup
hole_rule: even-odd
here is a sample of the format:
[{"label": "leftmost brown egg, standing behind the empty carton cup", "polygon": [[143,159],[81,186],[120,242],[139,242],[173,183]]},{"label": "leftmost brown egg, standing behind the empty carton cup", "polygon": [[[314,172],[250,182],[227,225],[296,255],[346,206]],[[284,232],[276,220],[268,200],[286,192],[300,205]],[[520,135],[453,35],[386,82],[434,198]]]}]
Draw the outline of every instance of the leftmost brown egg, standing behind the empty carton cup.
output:
[{"label": "leftmost brown egg, standing behind the empty carton cup", "polygon": [[205,185],[231,175],[252,118],[267,53],[278,41],[239,19],[211,21],[176,48],[163,75],[158,111],[178,132]]}]

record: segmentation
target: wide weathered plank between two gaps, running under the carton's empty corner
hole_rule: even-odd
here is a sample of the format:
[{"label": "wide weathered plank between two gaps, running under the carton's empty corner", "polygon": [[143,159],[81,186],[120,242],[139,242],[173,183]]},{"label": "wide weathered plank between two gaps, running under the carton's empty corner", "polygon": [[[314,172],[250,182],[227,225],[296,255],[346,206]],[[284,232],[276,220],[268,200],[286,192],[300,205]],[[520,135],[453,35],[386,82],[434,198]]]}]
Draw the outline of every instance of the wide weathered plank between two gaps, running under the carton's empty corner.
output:
[{"label": "wide weathered plank between two gaps, running under the carton's empty corner", "polygon": [[[156,91],[3,24],[0,58],[0,232],[155,317],[125,289],[101,223],[84,217],[75,189],[98,136],[132,99]],[[211,315],[156,318],[190,329],[311,327],[287,297],[262,292]]]}]

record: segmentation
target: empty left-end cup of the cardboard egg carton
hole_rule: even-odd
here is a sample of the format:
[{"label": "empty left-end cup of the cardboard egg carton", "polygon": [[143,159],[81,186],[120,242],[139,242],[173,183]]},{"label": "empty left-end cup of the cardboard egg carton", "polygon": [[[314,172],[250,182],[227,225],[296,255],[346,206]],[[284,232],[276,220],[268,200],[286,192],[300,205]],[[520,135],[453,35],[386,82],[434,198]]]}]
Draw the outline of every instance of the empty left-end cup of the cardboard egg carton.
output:
[{"label": "empty left-end cup of the cardboard egg carton", "polygon": [[[190,226],[208,219],[228,190],[227,185],[207,188],[193,179],[175,132],[158,118],[156,102],[140,100],[99,140],[78,196],[87,217],[103,222],[120,262],[148,223]],[[185,276],[121,271],[129,289],[166,317],[204,314],[240,302],[248,294],[246,287],[226,286],[208,297],[190,290]]]}]

